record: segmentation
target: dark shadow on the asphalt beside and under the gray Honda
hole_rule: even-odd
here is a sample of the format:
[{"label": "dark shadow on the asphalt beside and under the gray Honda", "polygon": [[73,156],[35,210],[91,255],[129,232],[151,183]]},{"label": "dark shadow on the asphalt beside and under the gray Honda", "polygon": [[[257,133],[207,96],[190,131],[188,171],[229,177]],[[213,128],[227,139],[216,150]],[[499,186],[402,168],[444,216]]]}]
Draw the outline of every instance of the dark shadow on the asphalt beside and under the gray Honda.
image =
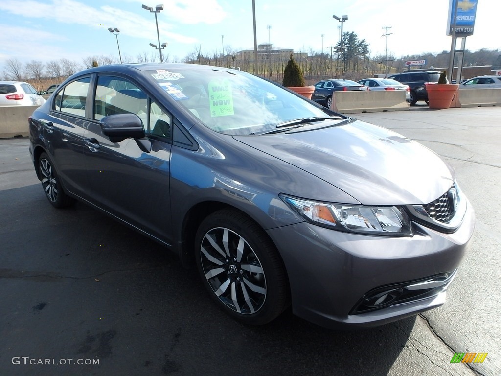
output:
[{"label": "dark shadow on the asphalt beside and under the gray Honda", "polygon": [[415,325],[332,331],[289,309],[246,326],[196,269],[94,209],[54,209],[39,184],[0,202],[0,374],[386,375]]}]

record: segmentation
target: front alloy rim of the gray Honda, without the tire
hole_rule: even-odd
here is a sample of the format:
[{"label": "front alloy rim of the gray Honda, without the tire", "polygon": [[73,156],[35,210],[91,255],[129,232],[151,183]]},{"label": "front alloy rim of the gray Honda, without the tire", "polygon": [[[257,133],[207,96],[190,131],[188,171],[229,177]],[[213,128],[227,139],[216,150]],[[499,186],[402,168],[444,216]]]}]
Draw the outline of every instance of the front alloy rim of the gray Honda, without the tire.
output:
[{"label": "front alloy rim of the gray Honda, without the tire", "polygon": [[205,278],[217,297],[233,311],[253,314],[266,299],[266,278],[248,243],[226,228],[214,228],[200,247]]}]

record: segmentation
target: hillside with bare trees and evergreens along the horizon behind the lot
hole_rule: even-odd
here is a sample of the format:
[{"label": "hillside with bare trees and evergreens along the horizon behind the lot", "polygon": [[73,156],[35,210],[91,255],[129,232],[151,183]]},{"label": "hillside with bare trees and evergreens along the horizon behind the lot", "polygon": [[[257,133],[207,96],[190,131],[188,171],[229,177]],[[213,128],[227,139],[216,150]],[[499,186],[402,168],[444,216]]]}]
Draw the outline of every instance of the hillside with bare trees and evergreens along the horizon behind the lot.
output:
[{"label": "hillside with bare trees and evergreens along the horizon behind the lot", "polygon": [[[312,84],[320,79],[326,78],[347,78],[359,80],[366,77],[374,77],[376,74],[401,72],[404,69],[405,61],[426,60],[426,68],[447,67],[449,64],[449,52],[442,51],[438,54],[423,53],[407,55],[396,58],[394,55],[388,56],[385,62],[385,55],[372,54],[369,44],[365,39],[360,40],[356,33],[343,33],[342,45],[346,47],[343,53],[341,43],[336,47],[328,49],[328,53],[322,51],[302,51],[295,53],[295,60],[305,75],[306,84]],[[254,73],[254,55],[239,54],[231,46],[225,46],[226,54],[223,56],[218,51],[202,51],[200,47],[188,53],[184,59],[172,59],[170,62],[207,64],[221,67],[235,67],[242,71]],[[258,75],[281,83],[283,80],[284,68],[289,60],[289,53],[284,54],[261,54],[257,63]],[[98,65],[108,65],[118,63],[118,58],[114,56],[88,56],[81,62],[75,62],[62,58],[43,63],[32,60],[22,63],[16,57],[7,59],[0,73],[1,80],[27,81],[38,90],[45,90],[51,84],[60,83],[72,74],[89,68],[96,61]],[[158,62],[158,56],[152,53],[143,52],[134,59],[131,56],[123,55],[124,63],[132,62]],[[164,61],[169,61],[169,56],[164,57]],[[388,64],[388,66],[386,66]],[[501,68],[501,51],[486,50],[465,51],[464,66],[492,66]],[[425,67],[423,67],[425,68]],[[467,77],[469,78],[469,77]]]}]

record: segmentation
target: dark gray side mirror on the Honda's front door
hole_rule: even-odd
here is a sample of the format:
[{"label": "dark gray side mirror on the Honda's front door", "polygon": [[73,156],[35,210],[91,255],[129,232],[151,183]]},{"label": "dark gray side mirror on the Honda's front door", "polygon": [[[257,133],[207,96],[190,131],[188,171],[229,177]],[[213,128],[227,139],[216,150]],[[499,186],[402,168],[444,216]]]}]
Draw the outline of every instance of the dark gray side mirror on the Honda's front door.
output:
[{"label": "dark gray side mirror on the Honda's front door", "polygon": [[101,119],[99,125],[111,142],[121,142],[129,137],[138,139],[145,136],[141,119],[136,114],[105,116]]}]

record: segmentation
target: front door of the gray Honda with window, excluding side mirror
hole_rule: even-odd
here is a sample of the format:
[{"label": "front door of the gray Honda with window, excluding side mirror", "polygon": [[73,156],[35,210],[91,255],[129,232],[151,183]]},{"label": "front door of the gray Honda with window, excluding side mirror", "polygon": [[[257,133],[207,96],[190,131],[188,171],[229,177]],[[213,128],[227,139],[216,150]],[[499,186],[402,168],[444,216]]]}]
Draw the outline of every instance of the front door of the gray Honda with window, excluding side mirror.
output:
[{"label": "front door of the gray Honda with window, excluding side mirror", "polygon": [[[94,121],[84,133],[86,171],[92,202],[144,232],[170,241],[170,150],[172,116],[129,78],[97,77]],[[134,113],[143,123],[151,150],[127,138],[111,142],[99,120]]]}]

